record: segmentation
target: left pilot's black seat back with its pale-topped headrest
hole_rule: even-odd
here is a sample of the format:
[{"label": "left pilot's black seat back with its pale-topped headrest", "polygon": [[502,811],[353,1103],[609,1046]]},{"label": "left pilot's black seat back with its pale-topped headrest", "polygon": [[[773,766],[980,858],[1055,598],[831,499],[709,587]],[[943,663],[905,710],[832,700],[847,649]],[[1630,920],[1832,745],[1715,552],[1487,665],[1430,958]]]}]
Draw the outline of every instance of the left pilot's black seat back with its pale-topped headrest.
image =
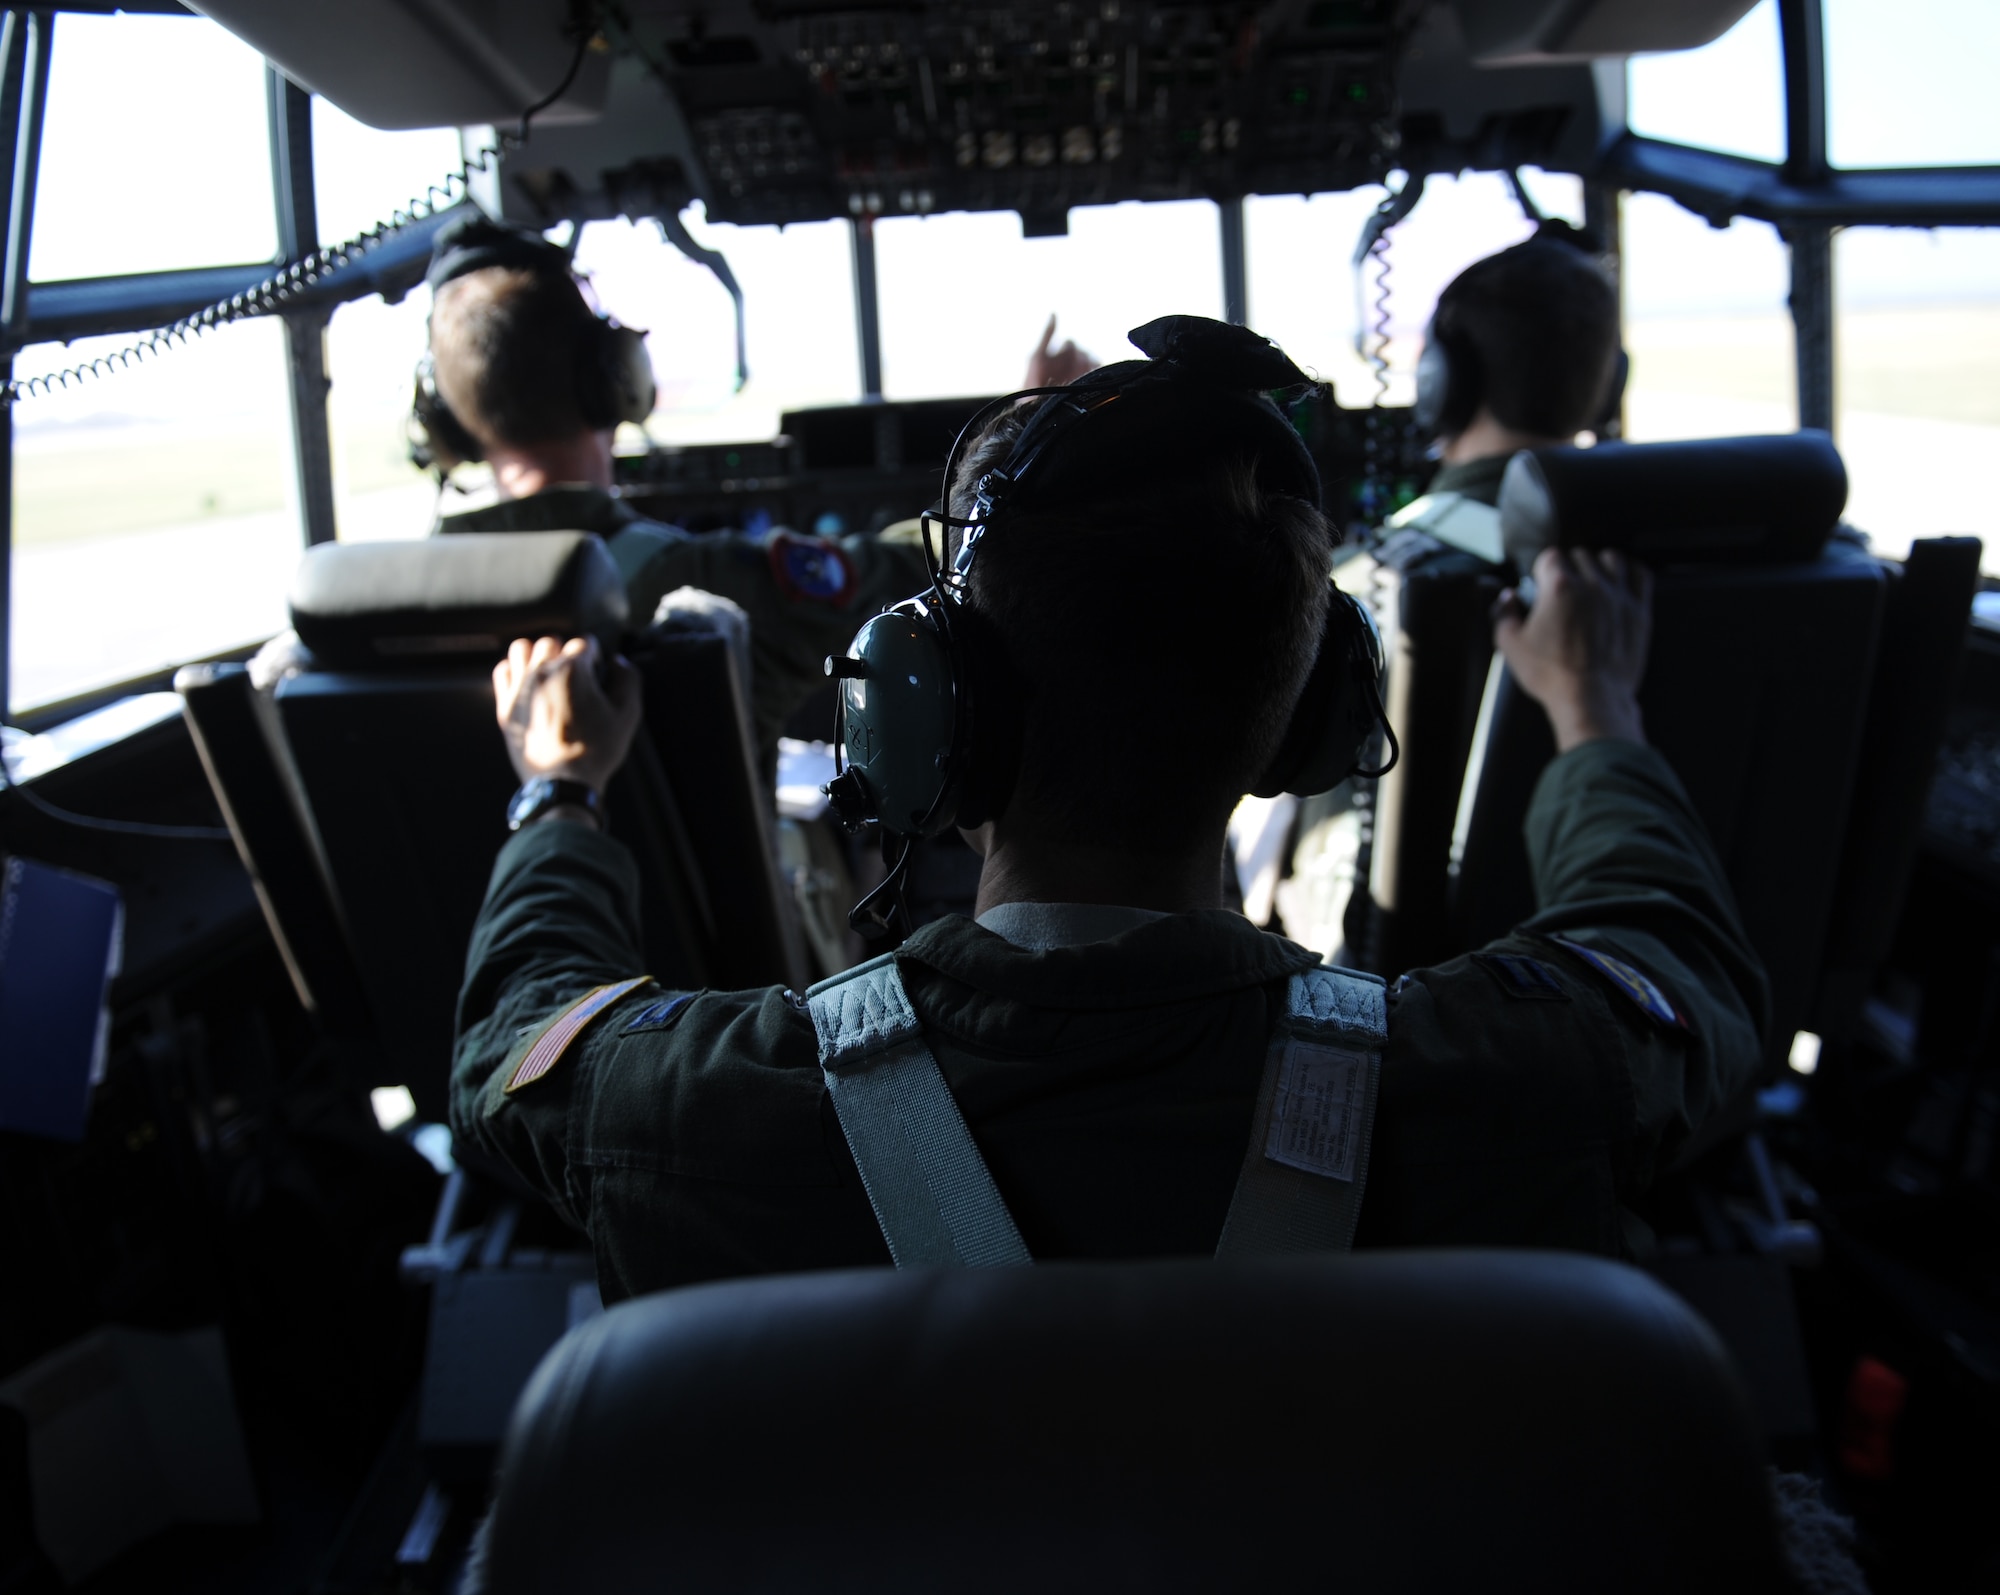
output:
[{"label": "left pilot's black seat back with its pale-topped headrest", "polygon": [[[588,534],[328,546],[294,590],[300,640],[318,644],[304,670],[270,702],[248,680],[190,682],[238,847],[274,887],[280,945],[318,1005],[330,993],[340,1023],[366,1031],[382,1083],[406,1083],[428,1117],[444,1115],[466,947],[516,786],[492,664],[516,636],[614,642],[622,616]],[[630,652],[660,738],[640,734],[606,798],[640,867],[644,973],[798,983],[726,638]],[[692,817],[682,792],[700,799]]]}]

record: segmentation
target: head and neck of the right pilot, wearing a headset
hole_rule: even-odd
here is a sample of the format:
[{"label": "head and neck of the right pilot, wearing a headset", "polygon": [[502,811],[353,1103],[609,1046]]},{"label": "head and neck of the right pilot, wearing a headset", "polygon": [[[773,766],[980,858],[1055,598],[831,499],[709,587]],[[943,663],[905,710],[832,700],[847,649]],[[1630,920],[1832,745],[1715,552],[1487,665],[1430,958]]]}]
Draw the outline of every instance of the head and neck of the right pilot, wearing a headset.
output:
[{"label": "head and neck of the right pilot, wearing a headset", "polygon": [[1618,292],[1588,234],[1542,222],[1466,266],[1442,294],[1416,366],[1416,422],[1440,468],[1426,498],[1500,502],[1506,462],[1574,444],[1622,384]]}]

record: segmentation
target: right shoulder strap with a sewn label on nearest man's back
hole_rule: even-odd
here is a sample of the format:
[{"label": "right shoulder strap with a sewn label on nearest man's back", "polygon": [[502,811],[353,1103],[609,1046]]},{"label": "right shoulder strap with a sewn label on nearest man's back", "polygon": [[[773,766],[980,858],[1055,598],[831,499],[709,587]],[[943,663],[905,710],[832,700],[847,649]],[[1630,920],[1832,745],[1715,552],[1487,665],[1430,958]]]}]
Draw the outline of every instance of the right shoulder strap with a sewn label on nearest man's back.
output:
[{"label": "right shoulder strap with a sewn label on nearest man's back", "polygon": [[1354,1245],[1386,1041],[1388,1003],[1378,975],[1292,975],[1216,1257]]}]

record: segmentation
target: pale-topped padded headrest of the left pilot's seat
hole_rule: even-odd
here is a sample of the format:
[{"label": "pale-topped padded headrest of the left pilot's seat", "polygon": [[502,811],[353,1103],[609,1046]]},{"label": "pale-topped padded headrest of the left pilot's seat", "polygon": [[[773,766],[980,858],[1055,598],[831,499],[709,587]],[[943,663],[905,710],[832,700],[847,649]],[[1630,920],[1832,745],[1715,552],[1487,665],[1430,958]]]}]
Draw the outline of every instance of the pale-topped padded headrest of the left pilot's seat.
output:
[{"label": "pale-topped padded headrest of the left pilot's seat", "polygon": [[514,638],[610,640],[624,584],[590,532],[462,532],[320,544],[292,578],[292,628],[316,664],[474,664]]}]

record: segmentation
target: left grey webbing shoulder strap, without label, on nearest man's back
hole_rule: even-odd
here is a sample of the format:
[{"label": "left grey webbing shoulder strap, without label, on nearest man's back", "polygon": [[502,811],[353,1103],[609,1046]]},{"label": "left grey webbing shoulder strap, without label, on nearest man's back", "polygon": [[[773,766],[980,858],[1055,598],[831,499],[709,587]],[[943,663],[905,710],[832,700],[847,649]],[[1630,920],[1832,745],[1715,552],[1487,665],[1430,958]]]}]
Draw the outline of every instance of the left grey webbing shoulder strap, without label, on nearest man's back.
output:
[{"label": "left grey webbing shoulder strap, without label, on nearest man's back", "polygon": [[1028,1263],[884,953],[806,991],[820,1069],[896,1267]]}]

